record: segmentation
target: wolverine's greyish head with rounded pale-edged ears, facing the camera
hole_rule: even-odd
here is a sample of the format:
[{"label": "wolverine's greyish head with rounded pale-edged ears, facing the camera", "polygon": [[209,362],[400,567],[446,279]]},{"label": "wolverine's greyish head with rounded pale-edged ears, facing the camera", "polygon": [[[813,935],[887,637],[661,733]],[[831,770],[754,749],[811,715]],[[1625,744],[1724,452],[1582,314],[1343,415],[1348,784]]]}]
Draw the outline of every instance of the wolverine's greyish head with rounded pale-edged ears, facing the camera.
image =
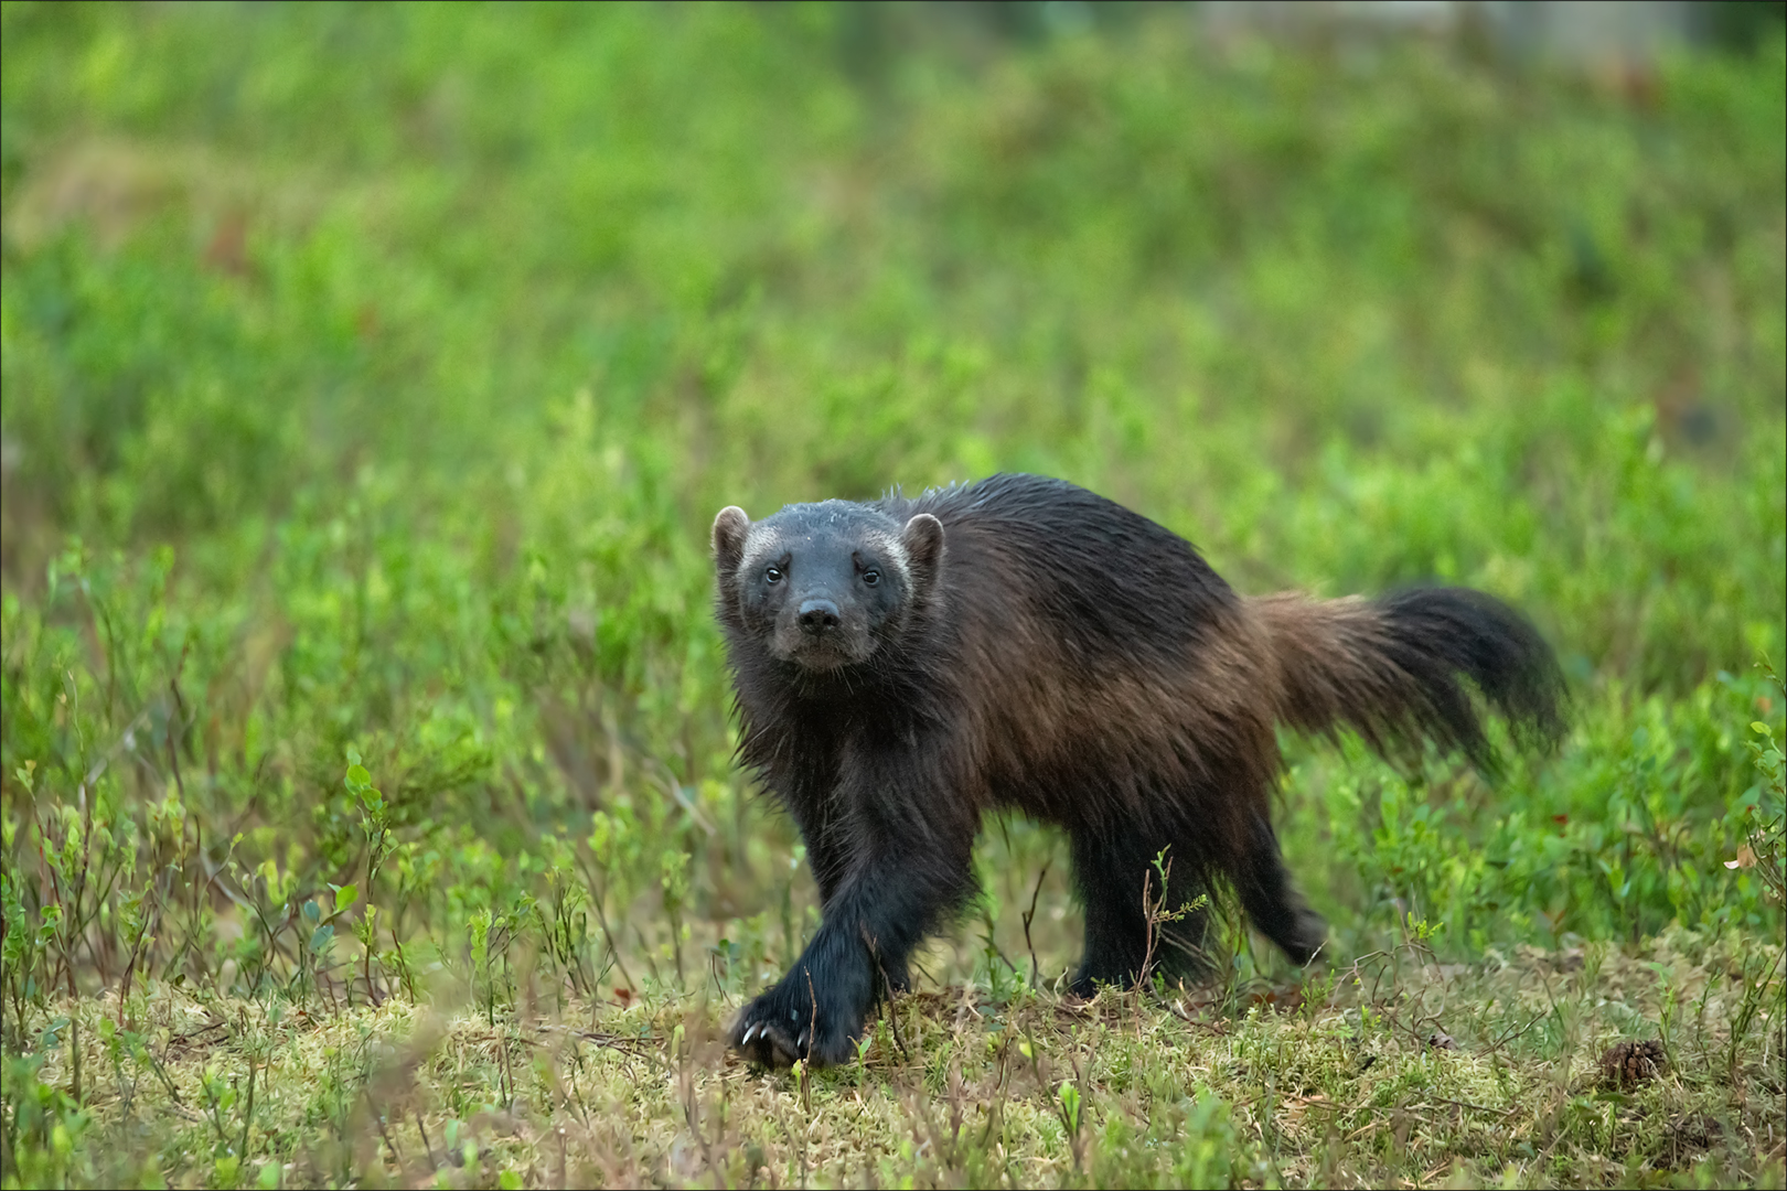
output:
[{"label": "wolverine's greyish head with rounded pale-edged ears, facing the camera", "polygon": [[944,525],[929,512],[901,525],[827,500],[756,523],[736,505],[713,520],[722,612],[774,657],[813,671],[874,657],[929,598],[942,557]]}]

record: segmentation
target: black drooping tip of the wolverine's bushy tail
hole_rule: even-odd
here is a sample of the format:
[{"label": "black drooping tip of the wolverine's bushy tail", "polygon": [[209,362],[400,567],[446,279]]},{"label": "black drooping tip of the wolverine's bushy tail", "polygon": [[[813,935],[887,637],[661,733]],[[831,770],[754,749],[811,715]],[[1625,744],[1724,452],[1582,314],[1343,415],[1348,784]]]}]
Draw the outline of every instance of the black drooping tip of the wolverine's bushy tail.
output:
[{"label": "black drooping tip of the wolverine's bushy tail", "polygon": [[1499,770],[1483,734],[1469,679],[1526,748],[1551,750],[1564,737],[1564,671],[1531,621],[1469,587],[1410,587],[1378,600],[1390,657],[1408,673],[1421,727],[1487,773]]}]

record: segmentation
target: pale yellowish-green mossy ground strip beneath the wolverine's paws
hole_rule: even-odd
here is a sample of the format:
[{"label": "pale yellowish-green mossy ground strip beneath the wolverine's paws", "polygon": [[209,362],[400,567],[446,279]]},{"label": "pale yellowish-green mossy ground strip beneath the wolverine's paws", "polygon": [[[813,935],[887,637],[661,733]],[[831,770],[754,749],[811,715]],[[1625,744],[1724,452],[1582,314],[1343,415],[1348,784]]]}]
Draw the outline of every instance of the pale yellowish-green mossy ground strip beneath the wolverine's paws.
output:
[{"label": "pale yellowish-green mossy ground strip beneath the wolverine's paws", "polygon": [[[1632,954],[1519,948],[1478,970],[1405,946],[1315,980],[1308,1000],[1079,1007],[1017,986],[949,987],[906,996],[856,1064],[813,1077],[729,1061],[720,998],[593,1014],[575,1004],[491,1025],[404,998],[302,1014],[170,995],[145,1004],[130,1032],[113,1025],[116,1000],[89,998],[66,1007],[32,1077],[61,1089],[50,1095],[84,1089],[93,1107],[61,1105],[77,1123],[57,1157],[45,1145],[55,1109],[18,1109],[36,1143],[21,1146],[20,1173],[247,1186],[415,1186],[436,1170],[449,1186],[1766,1186],[1782,1170],[1780,1096],[1767,1089],[1780,1046],[1755,1025],[1733,1029],[1780,962],[1778,945],[1760,950],[1674,932]],[[1633,1030],[1653,1037],[1658,1020],[1664,1073],[1607,1080],[1596,1057]]]}]

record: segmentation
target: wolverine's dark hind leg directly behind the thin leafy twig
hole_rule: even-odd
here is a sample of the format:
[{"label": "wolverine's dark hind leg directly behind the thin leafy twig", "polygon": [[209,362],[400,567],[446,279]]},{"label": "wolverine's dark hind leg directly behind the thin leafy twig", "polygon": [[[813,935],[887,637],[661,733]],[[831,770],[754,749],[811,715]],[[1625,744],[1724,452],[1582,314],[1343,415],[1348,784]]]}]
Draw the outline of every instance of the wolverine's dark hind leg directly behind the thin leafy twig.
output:
[{"label": "wolverine's dark hind leg directly behind the thin leafy twig", "polygon": [[1129,987],[1144,968],[1185,973],[1199,966],[1208,907],[1197,900],[1194,857],[1178,859],[1181,848],[1172,845],[1167,832],[1137,827],[1072,832],[1074,886],[1086,911],[1086,950],[1072,980],[1079,996],[1101,984]]}]

